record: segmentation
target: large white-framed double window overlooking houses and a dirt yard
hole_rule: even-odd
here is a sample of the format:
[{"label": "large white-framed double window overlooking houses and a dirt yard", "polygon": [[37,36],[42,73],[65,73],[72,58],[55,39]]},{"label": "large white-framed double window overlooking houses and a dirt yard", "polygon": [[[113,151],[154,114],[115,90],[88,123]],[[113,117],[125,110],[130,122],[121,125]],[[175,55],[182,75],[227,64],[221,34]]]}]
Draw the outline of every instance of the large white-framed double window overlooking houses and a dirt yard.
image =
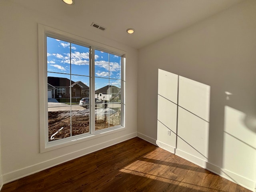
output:
[{"label": "large white-framed double window overlooking houses and a dirt yard", "polygon": [[[40,103],[40,109],[44,109],[40,112],[46,114],[44,120],[40,117],[41,150],[123,128],[123,53],[114,53],[105,45],[100,48],[99,43],[95,49],[80,37],[50,29],[41,34],[46,70],[41,74],[44,89],[40,94],[42,101],[48,98],[47,106]],[[53,87],[52,96],[48,86]]]}]

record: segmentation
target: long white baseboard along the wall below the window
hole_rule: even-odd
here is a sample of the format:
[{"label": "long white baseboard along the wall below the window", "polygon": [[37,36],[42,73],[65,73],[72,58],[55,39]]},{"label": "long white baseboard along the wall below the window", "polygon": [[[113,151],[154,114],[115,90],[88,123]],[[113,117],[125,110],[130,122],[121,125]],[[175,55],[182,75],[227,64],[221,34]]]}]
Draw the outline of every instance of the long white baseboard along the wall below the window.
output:
[{"label": "long white baseboard along the wall below the window", "polygon": [[122,137],[118,137],[118,138],[115,138],[115,139],[112,139],[112,140],[109,140],[109,141],[106,141],[106,142],[99,143],[99,144],[94,145],[94,146],[90,146],[88,148],[84,148],[82,150],[78,150],[78,151],[75,151],[75,152],[72,152],[72,153],[69,153],[69,154],[65,154],[63,156],[59,156],[59,157],[54,158],[54,159],[50,159],[50,160],[47,160],[47,161],[44,161],[44,162],[40,162],[38,164],[34,164],[32,166],[28,166],[28,167],[22,168],[20,170],[15,170],[13,172],[3,174],[2,175],[2,183],[6,184],[8,182],[12,182],[12,181],[17,180],[19,178],[34,174],[36,172],[40,172],[42,170],[45,170],[47,168],[50,168],[50,167],[53,167],[53,166],[56,166],[56,165],[59,165],[59,164],[62,164],[64,162],[68,162],[68,161],[73,160],[75,158],[84,156],[86,154],[90,154],[92,152],[101,150],[103,148],[107,148],[109,146],[118,144],[120,142],[126,141],[126,140],[131,139],[131,138],[134,138],[136,136],[137,136],[137,132],[134,132],[134,133],[122,136]]}]

